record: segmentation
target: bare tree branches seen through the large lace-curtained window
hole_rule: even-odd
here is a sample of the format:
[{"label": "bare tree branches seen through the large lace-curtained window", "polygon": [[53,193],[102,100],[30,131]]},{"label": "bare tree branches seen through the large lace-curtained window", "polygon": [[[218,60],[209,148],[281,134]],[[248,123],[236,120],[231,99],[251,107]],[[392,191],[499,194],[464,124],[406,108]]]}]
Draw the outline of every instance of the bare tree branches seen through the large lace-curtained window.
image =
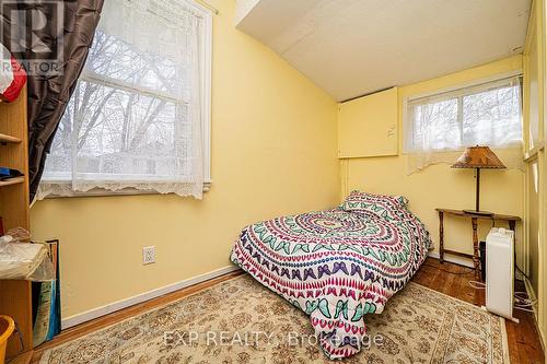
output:
[{"label": "bare tree branches seen through the large lace-curtained window", "polygon": [[[161,178],[174,167],[184,171],[190,162],[179,163],[175,155],[191,146],[185,143],[191,126],[179,118],[186,116],[188,105],[177,101],[174,80],[183,78],[173,61],[153,59],[97,32],[88,62],[93,73],[110,79],[110,84],[94,82],[91,72],[84,74],[59,125],[47,171],[70,177],[73,143],[81,167],[77,171],[105,179],[132,174]],[[164,97],[150,96],[156,91]]]}]

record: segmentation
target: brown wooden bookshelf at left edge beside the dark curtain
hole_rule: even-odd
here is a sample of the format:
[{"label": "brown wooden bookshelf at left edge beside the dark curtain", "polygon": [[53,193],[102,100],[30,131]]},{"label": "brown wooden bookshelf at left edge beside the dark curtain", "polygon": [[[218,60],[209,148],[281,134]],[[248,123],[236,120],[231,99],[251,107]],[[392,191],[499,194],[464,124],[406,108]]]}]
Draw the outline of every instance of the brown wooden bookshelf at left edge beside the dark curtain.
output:
[{"label": "brown wooden bookshelf at left edge beside the dark curtain", "polygon": [[[26,87],[13,103],[0,103],[0,166],[14,168],[23,177],[0,181],[0,216],[4,230],[28,230],[28,132]],[[32,287],[30,281],[0,280],[0,313],[13,317],[23,338],[8,341],[7,357],[25,363],[33,350]],[[32,356],[32,355],[31,355]]]}]

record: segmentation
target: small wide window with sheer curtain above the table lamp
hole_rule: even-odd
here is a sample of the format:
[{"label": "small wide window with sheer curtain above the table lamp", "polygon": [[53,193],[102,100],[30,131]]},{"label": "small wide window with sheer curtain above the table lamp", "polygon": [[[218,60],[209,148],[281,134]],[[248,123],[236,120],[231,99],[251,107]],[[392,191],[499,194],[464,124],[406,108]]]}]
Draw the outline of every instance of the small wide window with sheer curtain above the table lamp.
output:
[{"label": "small wide window with sheer curtain above the table lamp", "polygon": [[405,107],[406,153],[494,149],[522,143],[521,85],[517,77],[412,98]]}]

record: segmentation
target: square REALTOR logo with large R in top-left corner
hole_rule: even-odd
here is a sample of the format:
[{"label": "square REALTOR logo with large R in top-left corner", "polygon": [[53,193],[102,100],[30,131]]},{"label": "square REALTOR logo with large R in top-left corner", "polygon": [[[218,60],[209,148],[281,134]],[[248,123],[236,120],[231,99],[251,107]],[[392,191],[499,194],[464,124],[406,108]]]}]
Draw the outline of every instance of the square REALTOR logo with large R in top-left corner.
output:
[{"label": "square REALTOR logo with large R in top-left corner", "polygon": [[1,40],[28,74],[62,70],[63,1],[2,0]]}]

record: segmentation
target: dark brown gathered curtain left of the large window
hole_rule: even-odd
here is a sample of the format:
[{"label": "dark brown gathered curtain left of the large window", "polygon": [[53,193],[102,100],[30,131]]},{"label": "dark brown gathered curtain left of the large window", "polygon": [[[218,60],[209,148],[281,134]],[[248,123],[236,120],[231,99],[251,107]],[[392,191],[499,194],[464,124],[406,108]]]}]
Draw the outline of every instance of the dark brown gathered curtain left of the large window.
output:
[{"label": "dark brown gathered curtain left of the large window", "polygon": [[31,201],[57,126],[88,58],[103,2],[2,1],[2,43],[28,73]]}]

